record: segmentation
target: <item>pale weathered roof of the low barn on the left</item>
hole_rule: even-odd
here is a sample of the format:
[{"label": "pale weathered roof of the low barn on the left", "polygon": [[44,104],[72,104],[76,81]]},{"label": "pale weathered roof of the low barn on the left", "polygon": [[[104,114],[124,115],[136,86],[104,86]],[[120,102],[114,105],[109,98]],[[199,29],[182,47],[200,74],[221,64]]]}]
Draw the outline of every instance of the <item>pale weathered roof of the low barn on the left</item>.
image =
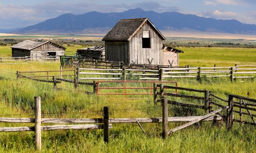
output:
[{"label": "pale weathered roof of the low barn on the left", "polygon": [[25,49],[25,50],[32,50],[32,49],[34,49],[36,47],[39,47],[40,45],[46,44],[48,42],[50,42],[50,43],[54,44],[55,46],[58,46],[58,47],[60,47],[60,48],[62,48],[64,50],[66,49],[65,47],[57,45],[57,44],[55,44],[55,43],[53,43],[51,41],[35,42],[35,41],[31,41],[31,40],[24,40],[24,41],[19,42],[19,43],[15,44],[15,45],[12,45],[11,48],[19,48],[19,49]]}]

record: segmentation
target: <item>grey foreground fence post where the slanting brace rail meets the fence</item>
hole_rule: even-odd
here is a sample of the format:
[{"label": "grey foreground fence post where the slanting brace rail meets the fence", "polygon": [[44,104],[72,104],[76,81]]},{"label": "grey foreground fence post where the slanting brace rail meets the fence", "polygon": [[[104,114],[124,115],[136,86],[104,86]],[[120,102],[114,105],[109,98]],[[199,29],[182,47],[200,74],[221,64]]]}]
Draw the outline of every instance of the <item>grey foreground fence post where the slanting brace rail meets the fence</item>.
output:
[{"label": "grey foreground fence post where the slanting brace rail meets the fence", "polygon": [[162,137],[167,139],[168,137],[168,100],[167,98],[162,99]]}]

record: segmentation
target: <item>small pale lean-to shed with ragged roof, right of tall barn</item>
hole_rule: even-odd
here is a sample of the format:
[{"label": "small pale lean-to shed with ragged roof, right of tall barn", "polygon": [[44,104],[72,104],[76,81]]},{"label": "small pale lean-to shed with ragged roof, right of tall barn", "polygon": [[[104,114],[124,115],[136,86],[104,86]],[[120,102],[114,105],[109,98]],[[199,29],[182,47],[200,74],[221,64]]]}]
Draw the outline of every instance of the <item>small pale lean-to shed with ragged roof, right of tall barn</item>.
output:
[{"label": "small pale lean-to shed with ragged roof, right of tall barn", "polygon": [[179,66],[179,53],[184,53],[182,50],[163,46],[162,61],[163,65]]}]

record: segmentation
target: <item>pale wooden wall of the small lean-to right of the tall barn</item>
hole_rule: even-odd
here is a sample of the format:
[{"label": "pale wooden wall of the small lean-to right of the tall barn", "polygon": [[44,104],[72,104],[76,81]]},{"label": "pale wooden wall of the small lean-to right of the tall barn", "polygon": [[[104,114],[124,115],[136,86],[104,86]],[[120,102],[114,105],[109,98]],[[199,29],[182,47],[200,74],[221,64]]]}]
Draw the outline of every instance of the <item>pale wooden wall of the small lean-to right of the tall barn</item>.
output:
[{"label": "pale wooden wall of the small lean-to right of the tall barn", "polygon": [[164,51],[162,52],[162,60],[163,60],[163,65],[170,65],[170,63],[173,62],[173,66],[179,66],[179,61],[178,61],[178,53],[175,52],[170,52],[170,51]]}]

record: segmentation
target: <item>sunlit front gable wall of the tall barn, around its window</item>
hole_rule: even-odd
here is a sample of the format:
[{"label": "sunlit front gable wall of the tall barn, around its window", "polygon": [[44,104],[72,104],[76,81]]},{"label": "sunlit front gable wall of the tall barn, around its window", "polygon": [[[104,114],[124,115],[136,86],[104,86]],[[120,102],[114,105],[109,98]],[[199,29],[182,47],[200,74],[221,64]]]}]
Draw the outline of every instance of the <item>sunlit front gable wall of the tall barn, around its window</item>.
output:
[{"label": "sunlit front gable wall of the tall barn, around its window", "polygon": [[[151,48],[142,48],[142,31],[149,30],[151,38]],[[150,64],[148,60],[152,60],[151,64],[162,64],[162,46],[163,40],[156,31],[145,22],[139,31],[130,40],[130,63]],[[148,60],[147,60],[148,59]]]}]

